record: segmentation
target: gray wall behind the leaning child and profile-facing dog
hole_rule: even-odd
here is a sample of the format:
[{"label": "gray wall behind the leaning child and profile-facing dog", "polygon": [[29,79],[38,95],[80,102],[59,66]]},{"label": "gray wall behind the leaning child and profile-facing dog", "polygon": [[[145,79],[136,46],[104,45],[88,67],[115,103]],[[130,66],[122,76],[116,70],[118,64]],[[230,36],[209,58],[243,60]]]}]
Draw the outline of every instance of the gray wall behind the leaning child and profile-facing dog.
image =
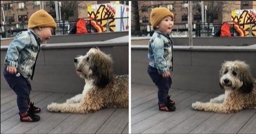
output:
[{"label": "gray wall behind the leaning child and profile-facing dog", "polygon": [[[85,81],[76,74],[74,58],[77,55],[85,55],[91,47],[99,47],[105,53],[111,54],[115,74],[128,74],[128,39],[119,42],[47,44],[39,55],[34,80],[30,80],[32,90],[81,93]],[[1,89],[9,88],[2,74],[6,50],[7,46],[1,46]]]}]

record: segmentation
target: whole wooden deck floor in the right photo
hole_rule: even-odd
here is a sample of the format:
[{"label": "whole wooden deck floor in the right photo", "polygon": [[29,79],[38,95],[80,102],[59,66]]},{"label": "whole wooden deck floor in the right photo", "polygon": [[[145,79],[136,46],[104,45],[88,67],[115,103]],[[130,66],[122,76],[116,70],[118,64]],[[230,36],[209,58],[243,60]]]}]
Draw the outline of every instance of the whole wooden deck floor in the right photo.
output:
[{"label": "whole wooden deck floor in the right photo", "polygon": [[157,87],[131,84],[131,133],[133,134],[255,134],[256,109],[235,114],[195,111],[192,102],[209,101],[218,94],[171,89],[176,102],[174,112],[162,112],[157,106]]}]

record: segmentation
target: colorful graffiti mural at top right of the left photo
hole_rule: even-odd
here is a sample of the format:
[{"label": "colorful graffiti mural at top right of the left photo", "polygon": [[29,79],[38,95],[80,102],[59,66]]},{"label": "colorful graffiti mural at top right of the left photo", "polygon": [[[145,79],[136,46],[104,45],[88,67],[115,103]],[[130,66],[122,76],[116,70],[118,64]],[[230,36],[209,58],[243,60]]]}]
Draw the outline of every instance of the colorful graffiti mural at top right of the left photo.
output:
[{"label": "colorful graffiti mural at top right of the left photo", "polygon": [[94,33],[128,31],[128,11],[127,5],[115,2],[88,5],[87,29],[91,29]]}]

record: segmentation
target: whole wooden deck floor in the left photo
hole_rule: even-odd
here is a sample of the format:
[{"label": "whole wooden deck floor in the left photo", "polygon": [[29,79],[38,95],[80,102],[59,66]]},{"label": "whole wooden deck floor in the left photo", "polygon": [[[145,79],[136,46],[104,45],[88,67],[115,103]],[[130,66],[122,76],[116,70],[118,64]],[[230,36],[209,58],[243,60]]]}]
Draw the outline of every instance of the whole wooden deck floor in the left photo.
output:
[{"label": "whole wooden deck floor in the left photo", "polygon": [[30,94],[31,101],[40,107],[38,122],[21,122],[16,94],[1,89],[1,134],[128,134],[128,108],[109,108],[90,114],[48,112],[47,104],[64,102],[74,94],[39,92]]}]

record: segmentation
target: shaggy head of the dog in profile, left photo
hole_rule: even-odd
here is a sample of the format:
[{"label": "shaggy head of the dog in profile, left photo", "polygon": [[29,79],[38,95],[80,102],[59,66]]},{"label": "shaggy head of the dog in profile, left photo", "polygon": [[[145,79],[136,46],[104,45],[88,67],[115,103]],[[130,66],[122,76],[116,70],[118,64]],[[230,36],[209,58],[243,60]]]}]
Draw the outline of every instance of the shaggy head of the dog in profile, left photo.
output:
[{"label": "shaggy head of the dog in profile, left photo", "polygon": [[85,56],[74,59],[77,74],[84,79],[93,80],[98,87],[105,87],[113,77],[111,57],[98,48],[90,49]]}]

